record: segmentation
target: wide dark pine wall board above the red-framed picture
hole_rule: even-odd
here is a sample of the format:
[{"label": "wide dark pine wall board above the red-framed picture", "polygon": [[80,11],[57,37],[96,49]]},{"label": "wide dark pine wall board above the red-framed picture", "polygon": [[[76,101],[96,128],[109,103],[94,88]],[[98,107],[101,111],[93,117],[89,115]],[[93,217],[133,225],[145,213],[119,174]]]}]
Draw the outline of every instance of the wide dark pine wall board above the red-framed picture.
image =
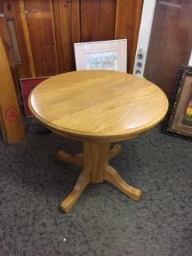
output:
[{"label": "wide dark pine wall board above the red-framed picture", "polygon": [[58,74],[51,0],[25,0],[26,20],[37,77]]}]

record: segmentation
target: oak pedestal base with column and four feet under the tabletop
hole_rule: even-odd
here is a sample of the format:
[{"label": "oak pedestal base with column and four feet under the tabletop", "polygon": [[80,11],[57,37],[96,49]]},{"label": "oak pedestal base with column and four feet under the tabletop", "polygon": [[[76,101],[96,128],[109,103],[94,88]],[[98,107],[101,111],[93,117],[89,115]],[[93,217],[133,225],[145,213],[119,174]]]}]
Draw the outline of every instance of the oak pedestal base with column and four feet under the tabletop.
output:
[{"label": "oak pedestal base with column and four feet under the tabletop", "polygon": [[136,201],[140,200],[142,192],[124,182],[118,172],[112,166],[109,166],[109,159],[118,154],[120,150],[121,147],[118,145],[110,150],[110,142],[89,141],[84,142],[83,154],[72,156],[62,150],[58,152],[60,160],[83,167],[74,189],[60,205],[62,211],[66,213],[70,210],[89,183],[102,183],[104,180],[113,183],[130,198]]}]

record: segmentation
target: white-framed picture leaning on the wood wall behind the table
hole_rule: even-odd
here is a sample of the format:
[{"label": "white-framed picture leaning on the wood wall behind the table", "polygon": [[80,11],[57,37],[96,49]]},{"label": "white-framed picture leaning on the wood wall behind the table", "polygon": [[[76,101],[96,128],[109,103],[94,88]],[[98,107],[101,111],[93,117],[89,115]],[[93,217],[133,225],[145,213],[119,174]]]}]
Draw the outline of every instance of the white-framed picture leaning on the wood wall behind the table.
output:
[{"label": "white-framed picture leaning on the wood wall behind the table", "polygon": [[126,72],[127,40],[74,43],[76,70]]}]

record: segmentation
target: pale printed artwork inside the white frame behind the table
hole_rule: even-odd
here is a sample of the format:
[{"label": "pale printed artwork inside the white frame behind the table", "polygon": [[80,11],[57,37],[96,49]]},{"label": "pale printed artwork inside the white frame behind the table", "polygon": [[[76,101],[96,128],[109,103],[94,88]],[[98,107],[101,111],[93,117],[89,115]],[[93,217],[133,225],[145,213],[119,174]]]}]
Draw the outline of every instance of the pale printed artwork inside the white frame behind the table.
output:
[{"label": "pale printed artwork inside the white frame behind the table", "polygon": [[86,54],[86,70],[118,70],[118,51]]}]

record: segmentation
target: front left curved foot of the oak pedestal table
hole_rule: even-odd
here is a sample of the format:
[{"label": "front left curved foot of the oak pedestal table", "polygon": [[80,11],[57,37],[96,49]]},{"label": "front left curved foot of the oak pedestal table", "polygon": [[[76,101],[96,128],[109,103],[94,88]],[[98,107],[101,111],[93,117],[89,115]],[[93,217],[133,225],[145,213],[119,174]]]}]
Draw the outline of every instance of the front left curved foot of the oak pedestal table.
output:
[{"label": "front left curved foot of the oak pedestal table", "polygon": [[86,186],[90,183],[90,181],[91,173],[86,170],[82,170],[81,174],[78,177],[78,181],[74,186],[74,189],[70,192],[67,198],[63,200],[60,204],[60,210],[67,213],[70,210],[70,208],[74,205],[74,203],[78,200],[78,198],[82,194],[82,191],[85,190]]}]

